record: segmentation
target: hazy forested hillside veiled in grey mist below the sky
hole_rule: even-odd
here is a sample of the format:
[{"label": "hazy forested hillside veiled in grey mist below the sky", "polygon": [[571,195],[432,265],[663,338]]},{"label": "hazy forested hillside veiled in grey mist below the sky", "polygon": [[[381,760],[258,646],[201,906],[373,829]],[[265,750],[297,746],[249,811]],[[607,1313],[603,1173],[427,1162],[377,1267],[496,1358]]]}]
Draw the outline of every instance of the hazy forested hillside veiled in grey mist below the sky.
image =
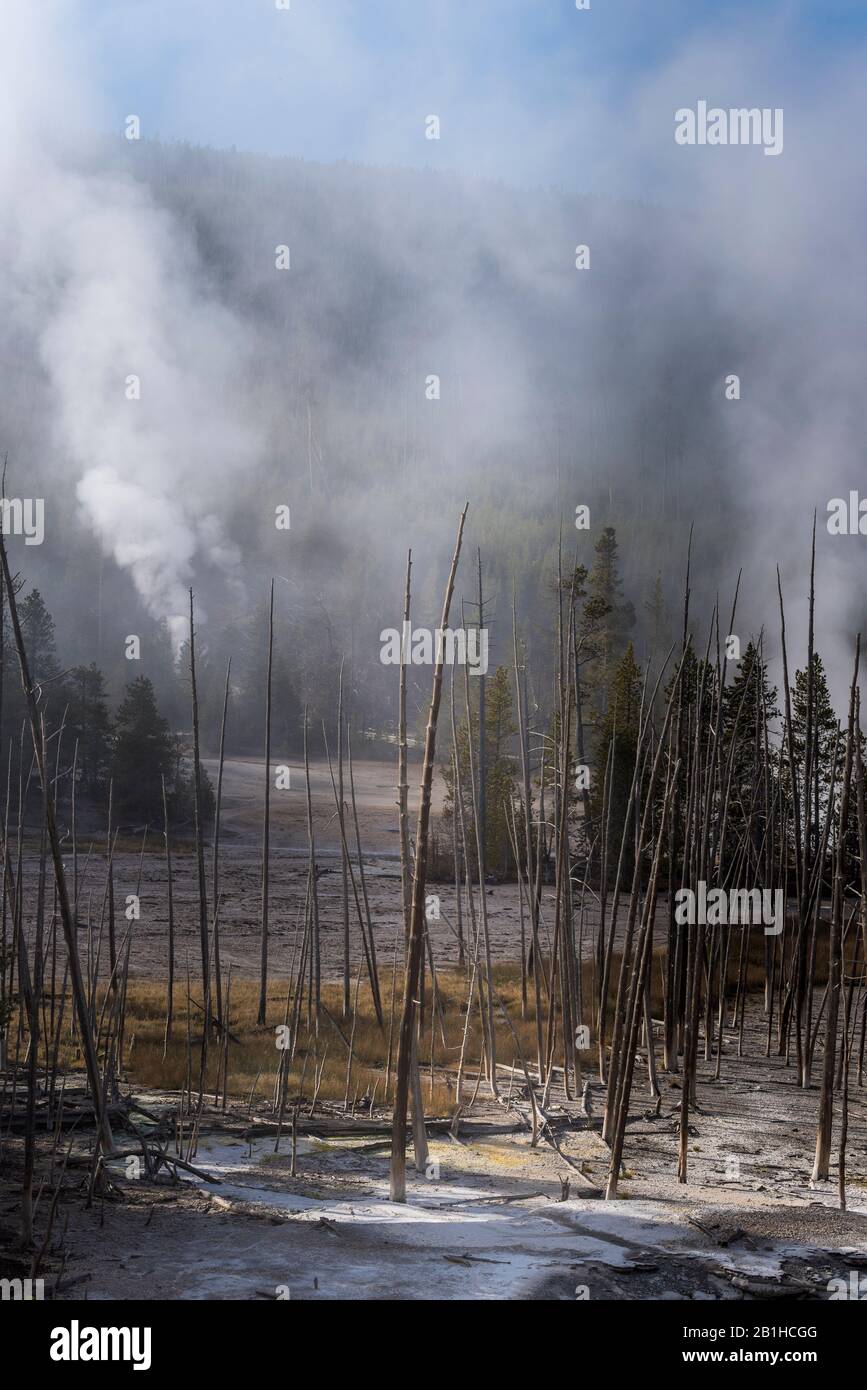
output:
[{"label": "hazy forested hillside veiled in grey mist below the sky", "polygon": [[[58,402],[40,366],[43,325],[18,324],[14,364],[3,354],[7,491],[21,492],[26,478],[28,491],[47,499],[46,543],[28,549],[26,578],[50,595],[60,659],[94,660],[113,698],[128,674],[124,641],[135,632],[161,708],[172,726],[181,719],[175,638],[164,626],[178,610],[158,595],[170,570],[189,582],[176,555],[190,550],[201,657],[214,666],[215,688],[228,655],[239,663],[239,684],[245,667],[251,677],[261,663],[254,635],[275,574],[285,581],[275,649],[290,684],[275,703],[288,710],[281,738],[297,746],[304,703],[318,727],[343,656],[360,721],[392,721],[379,632],[397,617],[396,538],[411,535],[425,555],[417,613],[429,621],[446,559],[442,517],[463,505],[468,482],[486,585],[506,595],[515,584],[535,660],[546,621],[540,575],[553,567],[560,518],[578,505],[592,513],[578,563],[606,602],[604,557],[593,545],[600,528],[617,528],[621,575],[639,614],[629,631],[636,651],[656,641],[659,623],[645,621],[653,587],[657,612],[664,600],[678,602],[678,527],[685,549],[699,518],[699,584],[728,582],[734,562],[702,516],[718,512],[738,524],[718,389],[732,327],[697,288],[700,250],[681,215],[446,174],[149,140],[104,143],[90,160],[118,196],[147,199],[172,220],[182,246],[172,274],[189,281],[208,311],[225,313],[226,349],[243,329],[233,379],[224,381],[208,359],[207,339],[221,338],[218,317],[203,324],[201,360],[185,363],[193,373],[185,389],[201,396],[196,406],[214,417],[213,428],[217,406],[231,411],[233,434],[221,441],[228,455],[220,466],[207,439],[201,461],[165,456],[157,425],[164,423],[163,434],[174,423],[181,428],[181,406],[146,377],[140,399],[118,410],[117,448],[103,441],[101,421],[88,421],[94,450],[110,449],[117,470],[114,481],[100,474],[104,516],[86,488],[65,488],[63,510],[57,498],[69,467],[61,406],[68,414],[75,399]],[[588,272],[574,265],[577,228],[599,247]],[[279,245],[290,252],[285,271],[275,268]],[[99,342],[93,348],[101,352]],[[142,443],[150,435],[151,455]],[[128,475],[144,495],[153,485],[167,517],[146,521],[124,502]],[[435,480],[435,506],[420,505],[425,480]],[[288,528],[275,524],[278,507],[289,509]],[[140,549],[143,527],[153,580],[125,559]],[[609,646],[611,656],[622,652],[629,627],[617,610],[611,602],[602,667]],[[496,624],[492,641],[497,662]],[[596,677],[604,681],[610,671],[602,667]],[[418,706],[413,689],[410,705]],[[254,730],[245,720],[251,739],[263,717]]]}]

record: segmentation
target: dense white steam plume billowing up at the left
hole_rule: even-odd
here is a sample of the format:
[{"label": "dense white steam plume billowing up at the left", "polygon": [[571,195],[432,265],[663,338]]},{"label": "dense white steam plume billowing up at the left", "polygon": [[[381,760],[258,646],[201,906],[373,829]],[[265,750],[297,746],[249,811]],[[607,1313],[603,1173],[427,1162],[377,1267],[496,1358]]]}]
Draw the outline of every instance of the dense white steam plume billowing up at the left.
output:
[{"label": "dense white steam plume billowing up at the left", "polygon": [[218,514],[260,448],[236,399],[247,334],[207,293],[189,235],[100,168],[83,133],[100,114],[74,50],[60,57],[67,7],[1,10],[4,331],[44,368],[53,448],[104,553],[154,617],[176,617],[197,563],[239,562]]}]

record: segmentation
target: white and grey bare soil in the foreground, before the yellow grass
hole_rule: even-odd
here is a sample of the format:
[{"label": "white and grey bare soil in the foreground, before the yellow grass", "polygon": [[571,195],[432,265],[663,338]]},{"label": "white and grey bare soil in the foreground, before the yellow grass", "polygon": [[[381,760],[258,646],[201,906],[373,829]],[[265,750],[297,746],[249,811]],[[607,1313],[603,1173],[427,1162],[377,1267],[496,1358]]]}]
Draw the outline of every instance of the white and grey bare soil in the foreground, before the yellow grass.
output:
[{"label": "white and grey bare soil in the foreground, before the yellow grass", "polygon": [[[748,1047],[763,1051],[763,1037],[753,1001]],[[656,1116],[636,1076],[613,1202],[549,1144],[531,1145],[522,1087],[510,1091],[507,1080],[500,1105],[482,1095],[457,1140],[432,1129],[438,1166],[427,1177],[411,1173],[406,1207],[388,1201],[382,1136],[307,1137],[302,1116],[293,1179],[288,1136],[276,1155],[274,1137],[257,1137],[264,1113],[236,1108],[228,1133],[222,1118],[217,1127],[206,1118],[196,1163],[218,1184],[126,1182],[119,1200],[90,1212],[64,1204],[67,1277],[85,1279],[68,1297],[572,1300],[578,1290],[589,1300],[828,1298],[832,1277],[864,1277],[864,1090],[853,1087],[849,1211],[841,1212],[835,1172],[821,1190],[809,1186],[817,1091],[800,1091],[779,1058],[738,1058],[728,1033],[718,1083],[710,1070],[700,1068],[686,1186],[675,1172],[679,1090],[661,1077]],[[561,1094],[549,1115],[571,1116],[557,1130],[563,1152],[603,1187],[607,1150],[596,1119],[582,1119]],[[571,1183],[565,1200],[561,1179]]]}]

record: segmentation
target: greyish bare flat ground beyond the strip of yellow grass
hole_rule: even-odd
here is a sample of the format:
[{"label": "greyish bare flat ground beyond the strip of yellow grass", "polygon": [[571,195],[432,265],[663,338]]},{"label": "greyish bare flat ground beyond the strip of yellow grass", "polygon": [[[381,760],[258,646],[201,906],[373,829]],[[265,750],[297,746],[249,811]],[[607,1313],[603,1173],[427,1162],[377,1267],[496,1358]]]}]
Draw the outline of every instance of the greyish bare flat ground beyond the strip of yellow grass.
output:
[{"label": "greyish bare flat ground beyond the strip of yellow grass", "polygon": [[[272,773],[278,763],[272,764]],[[307,887],[307,808],[304,769],[290,766],[290,790],[272,792],[271,796],[271,855],[270,855],[270,967],[274,979],[285,977],[292,965],[299,920],[304,909]],[[215,764],[207,763],[215,780]],[[335,774],[336,776],[336,774]],[[370,901],[371,919],[377,941],[378,958],[390,963],[396,931],[400,924],[400,863],[397,845],[397,810],[395,805],[396,770],[389,763],[367,760],[354,766],[356,801],[364,853],[364,873]],[[254,976],[258,972],[261,940],[261,799],[264,762],[256,759],[232,759],[224,774],[224,803],[221,817],[220,909],[221,959],[231,965],[235,974]],[[349,777],[346,780],[349,798]],[[410,769],[410,817],[414,827],[418,799],[418,766]],[[311,803],[315,837],[315,859],[320,877],[317,891],[320,899],[320,929],[324,976],[336,977],[343,969],[343,876],[340,865],[340,834],[335,813],[335,801],[328,773],[328,763],[317,760],[311,764]],[[434,813],[440,813],[443,784],[434,784]],[[354,828],[352,815],[347,819],[347,838],[354,856]],[[104,841],[79,844],[79,922],[81,949],[94,956],[101,951],[100,960],[107,958],[107,929],[104,923],[106,888],[106,845]],[[69,880],[72,877],[71,855],[65,860]],[[206,855],[207,891],[211,901],[213,856]],[[146,840],[142,856],[131,848],[118,849],[114,858],[115,913],[118,940],[126,930],[124,910],[126,897],[139,891],[140,920],[131,927],[131,973],[158,979],[165,974],[168,960],[168,897],[167,872],[163,855],[161,828],[156,827]],[[36,885],[36,862],[33,855],[25,866],[25,881]],[[179,841],[172,849],[172,884],[175,910],[176,962],[183,969],[186,956],[195,967],[200,958],[199,944],[199,890],[196,860],[189,840]],[[356,885],[361,899],[361,883],[356,867]],[[439,920],[429,917],[429,930],[435,959],[439,965],[456,965],[457,949],[457,906],[453,883],[429,884],[429,891],[440,898]],[[553,922],[553,890],[543,890],[543,942]],[[25,901],[35,902],[36,892],[25,892]],[[495,960],[518,960],[521,956],[521,923],[518,890],[515,884],[486,885],[490,945]],[[350,903],[350,965],[358,960],[361,937],[356,901],[349,890]],[[213,912],[213,903],[211,903]],[[468,940],[464,903],[464,940]],[[660,902],[660,933],[666,919],[666,908]],[[86,923],[90,922],[88,933]],[[597,926],[597,905],[589,898],[585,922],[578,924],[584,955],[592,952]],[[660,935],[661,940],[661,935]]]}]

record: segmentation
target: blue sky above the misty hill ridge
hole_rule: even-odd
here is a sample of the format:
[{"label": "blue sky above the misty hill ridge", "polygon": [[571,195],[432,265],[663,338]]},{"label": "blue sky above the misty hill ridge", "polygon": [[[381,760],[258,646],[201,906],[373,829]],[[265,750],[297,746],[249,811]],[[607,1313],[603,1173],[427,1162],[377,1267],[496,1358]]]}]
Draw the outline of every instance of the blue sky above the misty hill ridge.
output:
[{"label": "blue sky above the misty hill ridge", "polygon": [[[816,107],[863,0],[64,0],[97,120],[267,154],[646,196],[672,103]],[[424,139],[438,114],[439,143]],[[659,147],[660,168],[653,153]]]}]

